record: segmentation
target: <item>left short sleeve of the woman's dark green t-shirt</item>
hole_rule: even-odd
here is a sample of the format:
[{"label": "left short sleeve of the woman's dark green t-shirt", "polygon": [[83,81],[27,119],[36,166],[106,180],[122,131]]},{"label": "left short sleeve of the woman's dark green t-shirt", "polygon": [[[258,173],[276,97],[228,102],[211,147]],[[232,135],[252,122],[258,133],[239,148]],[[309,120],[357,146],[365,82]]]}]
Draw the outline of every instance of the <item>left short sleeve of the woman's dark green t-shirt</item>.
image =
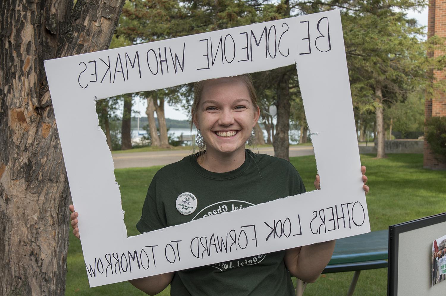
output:
[{"label": "left short sleeve of the woman's dark green t-shirt", "polygon": [[142,207],[141,218],[138,223],[136,223],[136,229],[138,229],[140,233],[167,227],[164,209],[161,204],[157,203],[156,183],[155,175],[147,190],[147,196],[145,197],[144,205]]}]

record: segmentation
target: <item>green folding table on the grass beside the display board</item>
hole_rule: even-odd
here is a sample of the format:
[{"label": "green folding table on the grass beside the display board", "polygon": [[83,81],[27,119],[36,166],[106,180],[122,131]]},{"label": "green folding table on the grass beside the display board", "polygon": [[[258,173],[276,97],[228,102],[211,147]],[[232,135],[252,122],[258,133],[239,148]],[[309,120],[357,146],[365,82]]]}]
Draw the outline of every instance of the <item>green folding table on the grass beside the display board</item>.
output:
[{"label": "green folding table on the grass beside the display board", "polygon": [[[336,240],[335,251],[322,273],[355,271],[347,295],[353,295],[361,270],[387,267],[388,230],[372,231]],[[296,295],[305,285],[297,279]]]}]

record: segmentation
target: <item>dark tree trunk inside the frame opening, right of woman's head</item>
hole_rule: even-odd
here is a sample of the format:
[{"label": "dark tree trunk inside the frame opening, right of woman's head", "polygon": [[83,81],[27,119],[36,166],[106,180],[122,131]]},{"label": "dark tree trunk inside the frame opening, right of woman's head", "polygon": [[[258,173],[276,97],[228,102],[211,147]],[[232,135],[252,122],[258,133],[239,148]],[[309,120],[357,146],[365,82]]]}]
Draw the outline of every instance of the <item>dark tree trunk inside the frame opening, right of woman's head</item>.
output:
[{"label": "dark tree trunk inside the frame opening, right of woman's head", "polygon": [[277,123],[274,135],[274,156],[289,160],[289,75],[282,74],[277,84]]}]

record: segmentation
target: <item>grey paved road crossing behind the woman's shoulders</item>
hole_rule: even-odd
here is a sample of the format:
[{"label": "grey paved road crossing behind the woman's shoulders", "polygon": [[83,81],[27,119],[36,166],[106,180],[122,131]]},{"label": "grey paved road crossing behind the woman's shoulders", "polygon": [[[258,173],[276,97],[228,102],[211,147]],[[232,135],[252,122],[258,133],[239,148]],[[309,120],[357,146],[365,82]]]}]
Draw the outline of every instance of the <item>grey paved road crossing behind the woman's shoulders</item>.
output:
[{"label": "grey paved road crossing behind the woman's shoulders", "polygon": [[[259,153],[274,155],[273,147],[258,148]],[[254,149],[257,152],[257,149]],[[165,165],[182,160],[192,153],[190,150],[155,151],[155,152],[132,152],[113,154],[115,169],[141,168],[153,165]],[[314,155],[313,146],[291,146],[289,156]]]}]

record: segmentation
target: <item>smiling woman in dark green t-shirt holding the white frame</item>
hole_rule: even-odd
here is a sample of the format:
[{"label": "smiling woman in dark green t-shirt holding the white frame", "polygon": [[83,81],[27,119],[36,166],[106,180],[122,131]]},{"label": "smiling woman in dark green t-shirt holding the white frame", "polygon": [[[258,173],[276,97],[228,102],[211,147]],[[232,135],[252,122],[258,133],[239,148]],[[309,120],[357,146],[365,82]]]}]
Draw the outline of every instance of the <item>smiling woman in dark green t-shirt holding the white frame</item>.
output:
[{"label": "smiling woman in dark green t-shirt holding the white frame", "polygon": [[[195,83],[191,116],[202,135],[202,150],[153,177],[136,224],[141,233],[305,192],[288,161],[245,149],[260,116],[249,74]],[[365,167],[361,170],[365,173]],[[367,193],[367,177],[363,181]],[[320,189],[318,176],[314,185]],[[186,208],[178,206],[183,199]],[[70,210],[73,233],[79,237],[78,214],[72,205]],[[334,241],[316,243],[130,283],[150,295],[169,284],[172,295],[294,295],[290,275],[314,282],[334,247]]]}]

